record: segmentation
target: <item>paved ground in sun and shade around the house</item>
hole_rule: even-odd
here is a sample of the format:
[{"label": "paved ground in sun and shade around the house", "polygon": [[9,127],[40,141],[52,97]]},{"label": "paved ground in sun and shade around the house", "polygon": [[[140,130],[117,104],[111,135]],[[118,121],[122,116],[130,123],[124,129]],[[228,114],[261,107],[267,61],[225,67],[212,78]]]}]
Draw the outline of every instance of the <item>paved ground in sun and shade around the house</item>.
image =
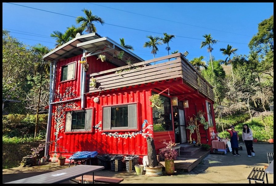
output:
[{"label": "paved ground in sun and shade around the house", "polygon": [[[206,156],[200,164],[190,172],[176,172],[173,176],[148,177],[145,175],[136,175],[135,172],[112,172],[103,170],[95,172],[98,176],[110,176],[124,178],[121,184],[129,183],[249,183],[247,176],[253,167],[264,167],[268,165],[267,152],[274,152],[274,144],[254,143],[256,156],[247,157],[246,147],[239,151],[241,156],[232,156],[231,152],[226,155],[211,154]],[[45,163],[34,167],[16,167],[2,170],[2,183],[22,178],[43,174],[46,172],[68,167],[58,166],[57,163]],[[273,174],[268,174],[269,183],[274,183]],[[63,183],[74,183],[67,181]]]}]

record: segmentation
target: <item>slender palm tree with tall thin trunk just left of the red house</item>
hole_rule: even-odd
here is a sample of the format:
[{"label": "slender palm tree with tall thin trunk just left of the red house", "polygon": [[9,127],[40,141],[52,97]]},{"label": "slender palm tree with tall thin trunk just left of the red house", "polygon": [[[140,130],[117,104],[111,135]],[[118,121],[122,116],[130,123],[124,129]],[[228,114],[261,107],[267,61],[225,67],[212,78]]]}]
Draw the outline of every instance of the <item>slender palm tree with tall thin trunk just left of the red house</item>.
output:
[{"label": "slender palm tree with tall thin trunk just left of the red house", "polygon": [[39,97],[38,97],[38,103],[36,107],[36,120],[35,120],[35,129],[34,129],[34,138],[36,138],[37,131],[38,131],[38,121],[39,121],[39,106],[40,106],[40,97],[41,97],[41,90],[42,90],[42,80],[43,80],[43,74],[46,72],[49,72],[49,64],[43,63],[43,56],[50,52],[50,50],[43,46],[42,44],[36,44],[32,47],[35,51],[35,53],[39,56],[39,62],[35,64],[34,70],[36,73],[40,74],[40,80],[39,80]]}]

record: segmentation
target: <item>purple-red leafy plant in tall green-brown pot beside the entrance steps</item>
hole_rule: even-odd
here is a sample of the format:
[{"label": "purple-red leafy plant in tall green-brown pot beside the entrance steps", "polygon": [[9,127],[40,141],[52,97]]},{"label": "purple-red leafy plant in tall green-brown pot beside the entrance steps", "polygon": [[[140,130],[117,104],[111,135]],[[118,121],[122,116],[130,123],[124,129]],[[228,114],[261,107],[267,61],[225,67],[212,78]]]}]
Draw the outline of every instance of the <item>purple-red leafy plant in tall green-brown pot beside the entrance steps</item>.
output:
[{"label": "purple-red leafy plant in tall green-brown pot beside the entrance steps", "polygon": [[176,160],[178,156],[178,152],[173,149],[173,146],[176,146],[176,143],[169,141],[168,143],[166,140],[163,142],[166,144],[165,148],[162,148],[159,154],[165,159],[165,172],[166,174],[172,175],[174,174],[174,160]]}]

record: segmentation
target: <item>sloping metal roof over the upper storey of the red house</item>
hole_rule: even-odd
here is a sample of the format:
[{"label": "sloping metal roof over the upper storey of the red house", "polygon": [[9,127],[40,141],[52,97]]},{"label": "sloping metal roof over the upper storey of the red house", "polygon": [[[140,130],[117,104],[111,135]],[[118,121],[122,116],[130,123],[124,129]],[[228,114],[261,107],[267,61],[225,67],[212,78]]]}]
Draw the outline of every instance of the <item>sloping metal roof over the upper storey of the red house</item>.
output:
[{"label": "sloping metal roof over the upper storey of the red house", "polygon": [[83,54],[83,50],[86,50],[87,52],[99,52],[105,50],[106,48],[112,48],[113,46],[114,48],[107,52],[111,56],[113,56],[115,50],[123,50],[125,59],[129,57],[135,62],[144,61],[142,58],[122,47],[112,39],[109,39],[108,37],[101,37],[95,32],[86,35],[77,35],[71,41],[68,41],[67,43],[44,55],[43,59],[50,61],[64,60]]}]

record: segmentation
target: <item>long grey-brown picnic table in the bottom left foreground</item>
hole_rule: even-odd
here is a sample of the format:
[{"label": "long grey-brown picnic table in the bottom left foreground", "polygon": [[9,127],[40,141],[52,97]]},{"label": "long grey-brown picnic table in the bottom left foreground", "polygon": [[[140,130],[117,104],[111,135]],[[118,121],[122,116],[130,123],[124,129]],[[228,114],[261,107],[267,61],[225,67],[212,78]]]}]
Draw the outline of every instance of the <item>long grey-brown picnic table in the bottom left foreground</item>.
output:
[{"label": "long grey-brown picnic table in the bottom left foreground", "polygon": [[[57,171],[48,172],[37,176],[24,178],[21,180],[7,182],[6,184],[57,184],[67,180],[72,180],[78,176],[83,177],[83,175],[86,175],[88,173],[93,173],[93,178],[94,178],[94,172],[102,169],[104,169],[104,166],[77,165],[77,166],[68,167],[65,169],[60,169]],[[83,183],[83,180],[82,180],[82,183]],[[93,179],[93,183],[94,183],[94,179]]]}]

